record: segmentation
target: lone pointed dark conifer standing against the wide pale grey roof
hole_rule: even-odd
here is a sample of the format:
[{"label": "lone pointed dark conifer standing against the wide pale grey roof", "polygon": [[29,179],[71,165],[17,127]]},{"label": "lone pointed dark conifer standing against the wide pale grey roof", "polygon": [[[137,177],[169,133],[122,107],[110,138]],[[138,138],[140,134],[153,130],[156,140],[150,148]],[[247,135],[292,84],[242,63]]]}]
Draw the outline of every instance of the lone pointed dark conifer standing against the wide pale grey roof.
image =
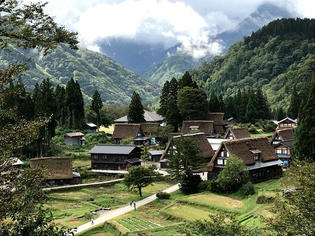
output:
[{"label": "lone pointed dark conifer standing against the wide pale grey roof", "polygon": [[127,117],[130,123],[141,123],[145,121],[141,98],[136,92],[132,94]]}]

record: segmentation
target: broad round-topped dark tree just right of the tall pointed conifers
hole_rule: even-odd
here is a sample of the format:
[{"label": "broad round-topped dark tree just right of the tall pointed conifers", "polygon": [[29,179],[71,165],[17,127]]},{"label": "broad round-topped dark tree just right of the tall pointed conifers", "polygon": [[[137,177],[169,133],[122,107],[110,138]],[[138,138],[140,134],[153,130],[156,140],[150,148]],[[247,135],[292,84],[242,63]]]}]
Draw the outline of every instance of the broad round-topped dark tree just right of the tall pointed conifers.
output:
[{"label": "broad round-topped dark tree just right of the tall pointed conifers", "polygon": [[184,120],[206,119],[208,102],[204,90],[190,87],[179,90],[178,109]]}]

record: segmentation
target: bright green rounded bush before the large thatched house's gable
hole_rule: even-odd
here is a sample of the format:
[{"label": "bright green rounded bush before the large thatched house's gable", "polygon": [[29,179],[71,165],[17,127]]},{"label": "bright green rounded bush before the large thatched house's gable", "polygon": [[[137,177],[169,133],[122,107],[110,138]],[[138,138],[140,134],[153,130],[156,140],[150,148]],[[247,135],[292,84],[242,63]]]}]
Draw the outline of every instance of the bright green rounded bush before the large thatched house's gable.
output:
[{"label": "bright green rounded bush before the large thatched house's gable", "polygon": [[248,171],[244,162],[231,156],[227,159],[224,169],[219,173],[216,182],[222,192],[230,193],[238,190],[248,181]]}]

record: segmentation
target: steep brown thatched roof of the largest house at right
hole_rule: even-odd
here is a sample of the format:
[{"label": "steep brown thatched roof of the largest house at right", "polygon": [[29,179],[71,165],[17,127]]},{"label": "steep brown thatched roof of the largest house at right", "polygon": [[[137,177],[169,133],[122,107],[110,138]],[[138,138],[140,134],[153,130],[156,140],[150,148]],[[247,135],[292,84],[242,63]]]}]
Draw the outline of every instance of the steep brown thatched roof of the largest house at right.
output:
[{"label": "steep brown thatched roof of the largest house at right", "polygon": [[251,137],[244,139],[235,139],[222,142],[211,161],[206,166],[207,171],[212,171],[215,160],[220,154],[222,146],[229,152],[230,156],[237,156],[243,160],[246,165],[255,164],[254,153],[260,153],[261,161],[273,161],[279,159],[274,149],[268,142],[267,137]]}]

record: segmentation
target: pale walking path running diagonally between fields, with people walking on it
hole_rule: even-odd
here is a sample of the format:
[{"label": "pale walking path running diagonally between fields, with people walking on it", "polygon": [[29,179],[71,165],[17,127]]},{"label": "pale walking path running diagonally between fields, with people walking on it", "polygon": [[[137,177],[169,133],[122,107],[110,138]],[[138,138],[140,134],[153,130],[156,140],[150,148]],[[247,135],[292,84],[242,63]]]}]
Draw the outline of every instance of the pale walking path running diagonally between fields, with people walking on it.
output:
[{"label": "pale walking path running diagonally between fields, with people walking on it", "polygon": [[[173,185],[173,186],[163,190],[163,192],[172,193],[172,192],[175,192],[178,189],[179,189],[179,186],[178,186],[178,184],[176,184],[176,185]],[[151,195],[151,196],[149,196],[147,198],[144,198],[144,199],[142,199],[140,201],[137,201],[136,202],[136,206],[137,206],[137,208],[141,207],[141,206],[144,206],[144,205],[146,205],[146,204],[148,204],[150,202],[153,202],[156,199],[157,199],[156,194],[153,194],[153,195]],[[118,209],[115,209],[115,210],[112,210],[112,211],[108,211],[108,212],[102,214],[97,219],[95,219],[94,220],[94,224],[89,222],[89,223],[86,223],[86,224],[83,224],[83,225],[80,225],[79,227],[77,227],[77,232],[75,234],[81,233],[83,231],[87,231],[87,230],[91,229],[92,227],[101,225],[107,220],[111,220],[111,219],[113,219],[113,218],[115,218],[117,216],[124,215],[124,214],[126,214],[126,213],[128,213],[128,212],[130,212],[132,210],[134,210],[134,208],[128,205],[128,206],[121,207],[121,208],[118,208]]]}]

